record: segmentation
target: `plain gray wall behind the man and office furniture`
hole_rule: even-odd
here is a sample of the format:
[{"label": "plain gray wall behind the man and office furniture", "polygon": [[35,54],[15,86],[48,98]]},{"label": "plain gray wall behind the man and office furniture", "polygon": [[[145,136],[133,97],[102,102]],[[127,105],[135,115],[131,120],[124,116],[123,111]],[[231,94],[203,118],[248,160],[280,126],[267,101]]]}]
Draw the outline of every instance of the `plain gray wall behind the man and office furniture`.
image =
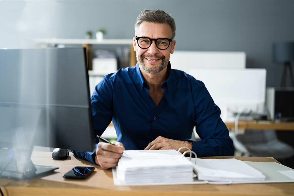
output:
[{"label": "plain gray wall behind the man and office furniture", "polygon": [[294,41],[293,0],[0,0],[0,48],[84,38],[101,27],[106,38],[133,38],[136,17],[153,8],[173,15],[176,50],[245,51],[246,67],[266,68],[267,86],[280,86],[282,66],[272,62],[271,47]]}]

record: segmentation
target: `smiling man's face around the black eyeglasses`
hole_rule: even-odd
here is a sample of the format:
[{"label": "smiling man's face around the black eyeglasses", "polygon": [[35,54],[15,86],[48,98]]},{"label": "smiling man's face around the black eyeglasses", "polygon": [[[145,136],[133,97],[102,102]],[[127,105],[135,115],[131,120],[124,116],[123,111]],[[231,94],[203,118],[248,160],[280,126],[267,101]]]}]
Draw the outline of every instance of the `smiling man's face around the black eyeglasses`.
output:
[{"label": "smiling man's face around the black eyeglasses", "polygon": [[[171,27],[166,23],[159,24],[143,21],[136,31],[136,36],[153,39],[171,39]],[[147,73],[156,74],[167,66],[169,57],[173,53],[176,41],[171,42],[170,46],[165,50],[159,50],[154,41],[152,41],[151,46],[147,49],[140,48],[135,38],[133,44],[140,67]]]}]

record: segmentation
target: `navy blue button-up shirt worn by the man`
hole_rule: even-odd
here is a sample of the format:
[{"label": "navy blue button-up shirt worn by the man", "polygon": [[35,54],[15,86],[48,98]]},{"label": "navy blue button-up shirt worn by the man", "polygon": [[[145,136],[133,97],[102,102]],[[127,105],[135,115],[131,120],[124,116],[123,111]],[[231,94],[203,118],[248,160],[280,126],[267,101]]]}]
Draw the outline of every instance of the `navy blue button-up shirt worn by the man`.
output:
[{"label": "navy blue button-up shirt worn by the man", "polygon": [[[202,139],[193,141],[192,151],[198,157],[232,156],[233,141],[204,83],[171,69],[170,63],[168,69],[170,75],[161,85],[164,92],[157,107],[138,63],[104,76],[91,97],[95,135],[102,135],[112,121],[117,140],[126,150],[144,150],[158,136],[188,140],[195,126]],[[95,152],[73,152],[94,163]]]}]

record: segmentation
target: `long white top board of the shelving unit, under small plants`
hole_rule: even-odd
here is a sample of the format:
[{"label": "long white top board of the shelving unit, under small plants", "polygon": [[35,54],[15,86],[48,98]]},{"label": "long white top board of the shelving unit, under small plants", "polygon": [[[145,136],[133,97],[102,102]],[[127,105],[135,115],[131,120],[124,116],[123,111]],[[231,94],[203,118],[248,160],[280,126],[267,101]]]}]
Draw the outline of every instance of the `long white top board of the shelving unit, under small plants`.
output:
[{"label": "long white top board of the shelving unit, under small plants", "polygon": [[113,44],[113,45],[128,45],[133,44],[133,39],[103,39],[100,42],[97,42],[96,39],[57,39],[57,38],[49,38],[49,39],[35,39],[36,44],[41,43],[51,43],[51,44]]}]

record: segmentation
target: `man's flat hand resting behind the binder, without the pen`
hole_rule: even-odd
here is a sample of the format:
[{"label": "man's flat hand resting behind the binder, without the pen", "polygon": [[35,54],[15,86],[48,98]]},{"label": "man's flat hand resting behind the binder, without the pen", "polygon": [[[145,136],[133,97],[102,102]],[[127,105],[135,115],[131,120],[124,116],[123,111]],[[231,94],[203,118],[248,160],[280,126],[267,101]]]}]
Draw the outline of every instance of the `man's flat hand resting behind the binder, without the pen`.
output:
[{"label": "man's flat hand resting behind the binder, without the pen", "polygon": [[[145,150],[167,150],[167,149],[175,149],[179,150],[181,147],[187,147],[190,150],[192,150],[193,143],[191,141],[179,141],[179,140],[171,140],[168,138],[164,138],[159,136],[155,140],[153,140],[148,146],[145,148]],[[185,152],[187,149],[183,148],[181,149],[181,153]]]}]

